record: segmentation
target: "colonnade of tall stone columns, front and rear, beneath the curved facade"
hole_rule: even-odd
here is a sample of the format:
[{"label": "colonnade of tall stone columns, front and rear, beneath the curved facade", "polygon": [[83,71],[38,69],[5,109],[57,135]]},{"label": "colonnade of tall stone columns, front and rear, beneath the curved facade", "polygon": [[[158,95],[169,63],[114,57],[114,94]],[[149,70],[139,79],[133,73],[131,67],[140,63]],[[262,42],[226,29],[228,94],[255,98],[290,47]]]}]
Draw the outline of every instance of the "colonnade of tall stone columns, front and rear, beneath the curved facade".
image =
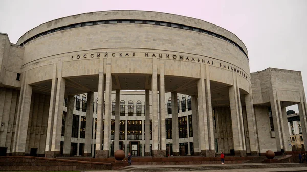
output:
[{"label": "colonnade of tall stone columns, front and rear, beneath the curved facade", "polygon": [[[96,157],[107,158],[110,154],[110,130],[111,130],[111,91],[112,91],[112,76],[111,76],[111,58],[100,58],[99,59],[99,83],[98,83],[98,105],[97,105],[97,136],[96,136]],[[104,60],[106,60],[106,73],[104,73]],[[158,66],[160,65],[160,66]],[[215,140],[213,131],[213,115],[212,115],[212,104],[211,104],[211,89],[210,89],[210,75],[209,66],[207,64],[200,65],[200,79],[197,81],[197,94],[191,95],[192,99],[192,120],[193,120],[193,146],[194,155],[202,155],[207,157],[215,156]],[[158,76],[158,68],[160,69],[160,75]],[[61,62],[54,64],[53,68],[53,79],[52,89],[50,97],[50,107],[48,115],[48,127],[46,136],[45,156],[55,157],[60,152],[60,141],[61,141],[61,120],[63,112],[63,101],[65,95],[65,79],[62,75]],[[25,152],[25,139],[27,136],[29,111],[30,106],[27,105],[31,102],[32,86],[27,83],[27,71],[25,78],[21,79],[23,86],[20,91],[20,100],[18,106],[17,122],[18,133],[15,135],[14,141],[14,152],[24,153]],[[240,89],[237,81],[238,75],[233,73],[234,83],[229,87],[230,97],[230,109],[231,109],[231,122],[232,122],[232,134],[233,144],[236,155],[246,156],[246,143],[245,143],[245,130],[243,126],[243,114],[242,105],[240,100]],[[159,79],[159,85],[158,85]],[[105,81],[105,85],[104,85]],[[159,87],[159,94],[158,94]],[[251,89],[251,88],[250,88]],[[105,90],[105,91],[104,91]],[[250,90],[251,92],[251,90]],[[93,92],[88,92],[89,102],[87,105],[86,117],[87,119],[92,118],[93,112]],[[158,107],[158,95],[159,107]],[[252,106],[252,98],[250,94],[245,94],[246,113],[248,122],[248,131],[250,139],[251,152],[258,153],[257,138],[255,119]],[[152,156],[153,157],[164,157],[166,155],[166,136],[165,136],[165,85],[164,85],[164,59],[152,59],[152,77],[151,77],[151,102],[152,102]],[[172,99],[172,122],[178,124],[177,114],[177,92],[171,93]],[[149,90],[145,90],[146,100],[146,117],[145,122],[149,124]],[[72,116],[73,116],[73,97],[68,96],[68,109],[67,109],[67,122],[65,124],[65,136],[63,145],[63,154],[68,155],[70,149],[70,133],[72,132]],[[105,106],[103,106],[103,102]],[[115,139],[114,139],[114,150],[119,149],[119,116],[120,116],[120,90],[116,90],[116,108],[115,108]],[[105,109],[103,109],[105,107]],[[104,125],[103,125],[103,111]],[[159,116],[158,116],[159,115]],[[160,129],[158,128],[160,127]],[[104,132],[102,131],[104,129]],[[92,120],[86,120],[86,135],[85,135],[85,156],[93,156],[94,144],[92,144]],[[150,155],[150,130],[149,125],[145,127],[145,156]],[[160,133],[158,133],[160,131]],[[103,135],[102,135],[103,133]],[[102,137],[103,136],[103,137]],[[178,125],[172,125],[172,136],[173,136],[173,154],[179,155],[179,141],[178,141]],[[92,152],[92,154],[91,154]]]}]

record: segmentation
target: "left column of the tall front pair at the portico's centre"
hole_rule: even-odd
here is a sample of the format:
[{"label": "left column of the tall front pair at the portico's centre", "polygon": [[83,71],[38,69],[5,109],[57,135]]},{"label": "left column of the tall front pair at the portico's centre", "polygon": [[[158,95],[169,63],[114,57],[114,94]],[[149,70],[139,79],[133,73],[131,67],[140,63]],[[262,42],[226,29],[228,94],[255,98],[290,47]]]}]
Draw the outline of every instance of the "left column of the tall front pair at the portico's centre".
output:
[{"label": "left column of the tall front pair at the portico's centre", "polygon": [[157,58],[152,59],[152,77],[151,77],[151,91],[152,91],[152,156],[163,157],[159,151],[159,137],[158,137],[158,81],[157,81]]}]

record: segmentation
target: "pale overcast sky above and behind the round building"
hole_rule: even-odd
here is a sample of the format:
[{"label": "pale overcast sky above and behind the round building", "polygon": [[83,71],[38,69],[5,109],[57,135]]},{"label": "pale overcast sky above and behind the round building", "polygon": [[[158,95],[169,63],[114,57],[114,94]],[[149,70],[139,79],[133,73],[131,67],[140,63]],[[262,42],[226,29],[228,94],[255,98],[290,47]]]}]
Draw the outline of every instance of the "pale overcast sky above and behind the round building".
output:
[{"label": "pale overcast sky above and behind the round building", "polygon": [[[0,32],[12,43],[30,29],[60,17],[106,10],[145,10],[198,18],[237,35],[248,49],[250,70],[302,72],[307,85],[307,1],[41,1],[1,0]],[[296,112],[297,106],[288,107]]]}]

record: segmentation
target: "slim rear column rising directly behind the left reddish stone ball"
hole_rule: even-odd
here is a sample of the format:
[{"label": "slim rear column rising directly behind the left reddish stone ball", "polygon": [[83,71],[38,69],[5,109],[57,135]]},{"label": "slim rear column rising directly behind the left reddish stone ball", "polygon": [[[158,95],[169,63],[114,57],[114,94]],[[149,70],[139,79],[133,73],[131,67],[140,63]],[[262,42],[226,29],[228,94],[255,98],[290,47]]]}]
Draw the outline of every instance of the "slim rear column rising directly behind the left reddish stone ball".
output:
[{"label": "slim rear column rising directly behind the left reddish stone ball", "polygon": [[120,90],[115,93],[115,126],[114,126],[114,152],[119,150],[119,109],[120,109]]}]

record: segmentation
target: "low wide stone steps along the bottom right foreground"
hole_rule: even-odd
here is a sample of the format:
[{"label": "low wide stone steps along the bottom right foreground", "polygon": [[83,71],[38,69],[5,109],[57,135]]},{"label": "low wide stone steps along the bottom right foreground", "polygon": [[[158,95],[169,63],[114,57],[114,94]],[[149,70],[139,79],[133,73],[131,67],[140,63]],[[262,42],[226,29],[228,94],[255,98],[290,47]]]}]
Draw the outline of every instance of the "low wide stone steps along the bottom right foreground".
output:
[{"label": "low wide stone steps along the bottom right foreground", "polygon": [[206,171],[231,169],[293,168],[307,167],[307,164],[229,164],[229,165],[171,165],[171,166],[129,166],[118,171]]}]

